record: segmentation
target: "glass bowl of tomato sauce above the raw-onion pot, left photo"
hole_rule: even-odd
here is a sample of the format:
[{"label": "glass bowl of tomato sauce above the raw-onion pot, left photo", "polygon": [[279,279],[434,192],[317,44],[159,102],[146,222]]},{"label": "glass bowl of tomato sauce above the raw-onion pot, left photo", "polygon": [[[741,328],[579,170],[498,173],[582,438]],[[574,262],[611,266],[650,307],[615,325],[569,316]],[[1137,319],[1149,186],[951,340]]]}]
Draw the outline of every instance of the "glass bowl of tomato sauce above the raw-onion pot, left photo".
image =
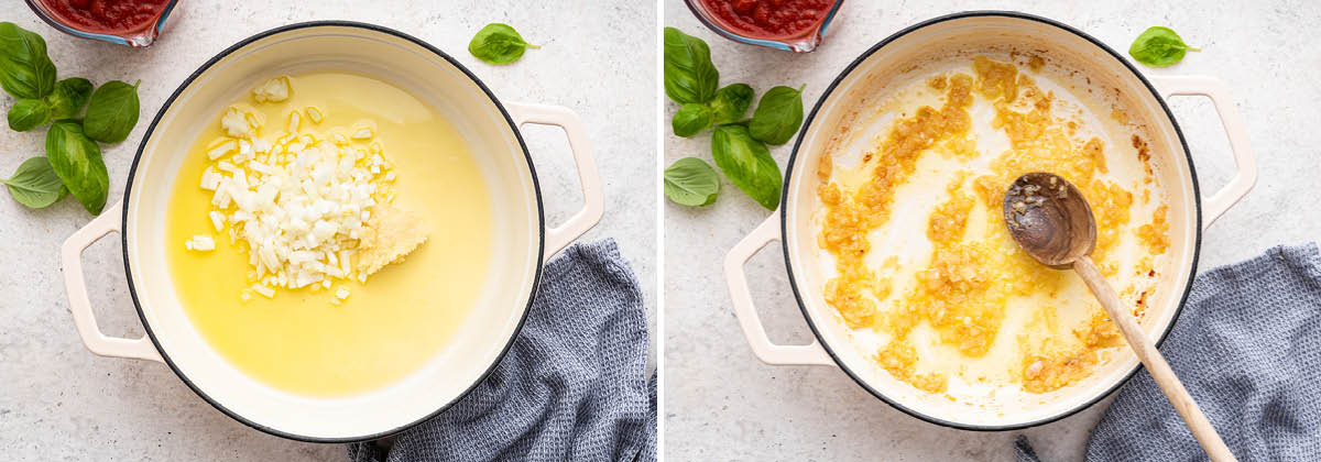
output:
[{"label": "glass bowl of tomato sauce above the raw-onion pot, left photo", "polygon": [[107,42],[147,46],[178,0],[28,0],[28,5],[61,32]]}]

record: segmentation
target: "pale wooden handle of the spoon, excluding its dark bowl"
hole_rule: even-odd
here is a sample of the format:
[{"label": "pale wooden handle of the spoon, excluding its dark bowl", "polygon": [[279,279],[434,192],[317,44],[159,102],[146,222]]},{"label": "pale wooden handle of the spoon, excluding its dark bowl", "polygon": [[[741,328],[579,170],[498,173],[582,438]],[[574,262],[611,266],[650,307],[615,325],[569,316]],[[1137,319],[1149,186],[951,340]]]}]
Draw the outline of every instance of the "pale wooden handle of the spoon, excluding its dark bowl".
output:
[{"label": "pale wooden handle of the spoon, excluding its dark bowl", "polygon": [[1174,370],[1169,368],[1165,356],[1160,354],[1160,350],[1156,350],[1156,345],[1143,333],[1143,327],[1137,323],[1137,319],[1129,314],[1128,309],[1119,300],[1119,294],[1110,286],[1106,277],[1100,275],[1091,257],[1083,256],[1075,260],[1074,271],[1078,272],[1078,276],[1082,276],[1082,280],[1087,282],[1087,288],[1096,296],[1100,305],[1106,308],[1106,313],[1119,326],[1119,331],[1128,339],[1128,346],[1137,354],[1137,359],[1143,362],[1143,366],[1147,366],[1147,372],[1156,380],[1156,385],[1165,392],[1165,397],[1174,405],[1174,411],[1178,411],[1178,414],[1184,417],[1184,422],[1193,432],[1197,442],[1202,445],[1206,455],[1211,461],[1236,461],[1230,449],[1225,446],[1221,436],[1215,433],[1215,428],[1206,420],[1206,414],[1193,401],[1193,396],[1188,395],[1184,383],[1178,381]]}]

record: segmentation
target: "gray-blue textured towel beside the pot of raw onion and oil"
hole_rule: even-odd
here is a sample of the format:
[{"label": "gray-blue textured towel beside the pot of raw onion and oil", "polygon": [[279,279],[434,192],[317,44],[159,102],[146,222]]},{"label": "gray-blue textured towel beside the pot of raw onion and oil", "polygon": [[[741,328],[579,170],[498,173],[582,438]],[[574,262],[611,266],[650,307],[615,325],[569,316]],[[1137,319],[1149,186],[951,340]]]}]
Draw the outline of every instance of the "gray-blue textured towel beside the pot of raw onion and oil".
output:
[{"label": "gray-blue textured towel beside the pot of raw onion and oil", "polygon": [[[468,396],[353,462],[655,461],[647,319],[614,240],[575,244],[542,272],[514,346]],[[650,381],[650,384],[649,384]]]}]

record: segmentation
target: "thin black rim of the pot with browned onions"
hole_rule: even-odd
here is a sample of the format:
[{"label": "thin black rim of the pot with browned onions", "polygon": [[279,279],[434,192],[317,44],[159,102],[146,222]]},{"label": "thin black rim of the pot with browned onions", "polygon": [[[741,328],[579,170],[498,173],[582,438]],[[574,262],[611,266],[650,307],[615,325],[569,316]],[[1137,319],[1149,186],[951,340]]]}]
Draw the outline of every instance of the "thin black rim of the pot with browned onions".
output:
[{"label": "thin black rim of the pot with browned onions", "polygon": [[[798,133],[798,140],[794,143],[794,150],[793,150],[793,153],[790,153],[790,156],[789,156],[789,164],[786,166],[785,186],[781,190],[781,198],[779,198],[779,203],[781,203],[781,207],[779,207],[779,232],[781,232],[781,235],[786,236],[787,231],[789,231],[789,228],[787,228],[789,207],[786,207],[785,203],[786,203],[786,201],[789,201],[789,190],[790,190],[789,183],[790,183],[790,181],[793,181],[793,177],[794,177],[793,176],[794,162],[798,160],[799,149],[802,148],[802,143],[803,143],[803,137],[806,136],[807,127],[811,127],[812,120],[816,119],[818,111],[820,111],[822,104],[824,104],[826,99],[830,98],[830,95],[835,91],[835,87],[838,87],[849,74],[852,74],[853,70],[857,69],[857,66],[860,66],[864,61],[867,61],[873,54],[876,54],[876,51],[880,51],[882,48],[885,48],[885,45],[889,45],[890,42],[898,40],[900,37],[908,36],[909,33],[913,33],[913,32],[915,32],[918,29],[923,29],[923,28],[930,26],[930,25],[935,25],[935,24],[941,24],[941,22],[946,22],[946,21],[952,21],[952,20],[970,18],[970,17],[1008,17],[1008,18],[1017,18],[1017,20],[1028,20],[1028,21],[1034,21],[1034,22],[1045,24],[1048,26],[1054,26],[1057,29],[1061,29],[1061,30],[1065,30],[1065,32],[1070,32],[1070,33],[1073,33],[1073,34],[1075,34],[1078,37],[1082,37],[1083,40],[1091,42],[1096,48],[1099,48],[1099,49],[1104,50],[1106,53],[1108,53],[1110,55],[1115,57],[1115,59],[1119,61],[1124,66],[1124,69],[1127,69],[1135,78],[1137,78],[1137,81],[1141,82],[1143,86],[1145,86],[1148,91],[1151,91],[1152,96],[1156,98],[1156,102],[1160,103],[1161,110],[1165,112],[1165,117],[1168,117],[1170,125],[1174,127],[1174,133],[1178,135],[1178,143],[1184,147],[1184,156],[1188,157],[1188,172],[1189,172],[1189,176],[1192,177],[1190,180],[1192,180],[1192,185],[1193,185],[1193,203],[1194,203],[1194,207],[1196,207],[1197,220],[1194,223],[1194,226],[1196,226],[1196,236],[1193,239],[1193,259],[1192,259],[1192,265],[1189,267],[1188,284],[1184,286],[1184,293],[1180,297],[1178,305],[1176,305],[1176,308],[1174,308],[1174,315],[1173,315],[1173,318],[1170,318],[1169,325],[1161,333],[1160,339],[1156,341],[1156,346],[1160,346],[1161,343],[1165,342],[1165,338],[1169,335],[1169,333],[1172,330],[1174,330],[1174,323],[1178,322],[1178,317],[1184,312],[1184,305],[1188,302],[1189,292],[1193,288],[1193,276],[1197,275],[1197,259],[1198,259],[1198,255],[1201,253],[1201,249],[1202,249],[1202,195],[1201,195],[1201,189],[1198,187],[1198,183],[1197,183],[1197,169],[1193,166],[1193,156],[1192,156],[1192,152],[1188,149],[1188,141],[1184,139],[1184,131],[1180,129],[1178,121],[1174,120],[1174,114],[1170,112],[1169,111],[1169,106],[1165,104],[1165,99],[1160,96],[1160,92],[1156,91],[1156,88],[1151,84],[1151,82],[1147,81],[1147,78],[1143,77],[1143,74],[1140,71],[1137,71],[1137,69],[1133,67],[1132,63],[1129,63],[1128,61],[1125,61],[1123,58],[1123,55],[1120,55],[1119,53],[1116,53],[1114,49],[1111,49],[1110,46],[1107,46],[1102,41],[1096,40],[1095,37],[1089,36],[1087,33],[1085,33],[1085,32],[1082,32],[1079,29],[1075,29],[1075,28],[1073,28],[1070,25],[1066,25],[1063,22],[1055,21],[1055,20],[1052,20],[1052,18],[1046,18],[1046,17],[1041,17],[1041,16],[1036,16],[1036,15],[1021,13],[1021,12],[1013,12],[1013,11],[968,11],[968,12],[945,15],[945,16],[934,17],[934,18],[930,18],[930,20],[926,20],[926,21],[910,25],[908,28],[904,28],[902,30],[896,32],[894,34],[892,34],[892,36],[886,37],[885,40],[882,40],[882,41],[877,42],[876,45],[873,45],[871,49],[868,49],[861,55],[859,55],[857,59],[853,59],[853,62],[849,63],[847,67],[844,67],[844,70],[840,71],[839,77],[836,77],[835,81],[831,82],[831,84],[822,94],[820,99],[816,100],[816,104],[812,107],[812,111],[807,115],[807,119],[804,119],[804,121],[803,121],[803,129]],[[1050,422],[1054,422],[1057,420],[1073,416],[1073,414],[1075,414],[1075,413],[1078,413],[1078,412],[1081,412],[1081,411],[1091,407],[1092,404],[1096,404],[1096,401],[1100,401],[1100,400],[1106,399],[1107,396],[1110,396],[1111,393],[1114,393],[1116,389],[1119,389],[1120,387],[1123,387],[1125,383],[1128,383],[1128,380],[1131,380],[1133,378],[1133,375],[1137,374],[1137,370],[1141,368],[1141,364],[1139,363],[1131,371],[1128,371],[1128,374],[1122,380],[1116,381],[1112,387],[1110,387],[1110,389],[1107,389],[1107,391],[1096,395],[1096,397],[1094,397],[1094,399],[1091,399],[1091,400],[1089,400],[1086,403],[1082,403],[1082,404],[1079,404],[1079,405],[1077,405],[1077,407],[1074,407],[1074,408],[1071,408],[1071,409],[1069,409],[1066,412],[1058,413],[1055,416],[1041,418],[1041,420],[1036,420],[1036,421],[1030,421],[1030,422],[1011,424],[1011,425],[972,425],[972,424],[955,422],[955,421],[950,421],[950,420],[945,420],[945,418],[939,418],[939,417],[934,417],[934,416],[918,412],[918,411],[915,411],[913,408],[905,407],[904,404],[898,403],[897,400],[893,400],[893,399],[885,396],[884,393],[881,393],[880,391],[877,391],[876,388],[873,388],[872,385],[869,385],[865,380],[863,380],[863,378],[859,376],[856,372],[853,372],[852,370],[849,370],[848,366],[845,366],[843,360],[840,360],[840,358],[835,354],[835,350],[831,347],[831,345],[828,342],[826,342],[824,337],[822,337],[820,330],[812,322],[812,317],[807,313],[807,304],[803,301],[803,293],[798,290],[798,281],[794,277],[794,265],[791,263],[793,259],[791,259],[791,256],[789,253],[789,246],[781,246],[781,247],[783,248],[783,253],[785,253],[785,271],[789,273],[789,286],[794,292],[795,301],[798,301],[798,309],[803,313],[803,318],[807,319],[807,326],[812,330],[812,335],[816,337],[818,342],[826,350],[826,354],[830,355],[831,360],[834,360],[835,364],[838,364],[839,368],[844,371],[844,374],[847,374],[851,379],[853,379],[855,383],[857,383],[860,387],[863,387],[864,389],[867,389],[867,392],[872,393],[872,396],[876,396],[881,401],[885,401],[885,404],[889,404],[890,407],[893,407],[893,408],[896,408],[896,409],[898,409],[898,411],[901,411],[901,412],[904,412],[904,413],[906,413],[909,416],[925,420],[927,422],[931,422],[931,424],[935,424],[935,425],[941,425],[941,426],[948,426],[948,428],[954,428],[954,429],[975,430],[975,432],[1018,430],[1018,429],[1025,429],[1025,428],[1032,428],[1032,426],[1050,424]]]}]

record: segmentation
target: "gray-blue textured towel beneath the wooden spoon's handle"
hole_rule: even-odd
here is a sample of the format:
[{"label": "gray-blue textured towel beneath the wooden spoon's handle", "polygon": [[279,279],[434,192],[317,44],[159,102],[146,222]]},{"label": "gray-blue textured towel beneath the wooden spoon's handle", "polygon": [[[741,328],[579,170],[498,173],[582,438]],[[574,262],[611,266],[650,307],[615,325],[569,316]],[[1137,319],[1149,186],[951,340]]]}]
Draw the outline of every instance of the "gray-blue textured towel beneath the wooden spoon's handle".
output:
[{"label": "gray-blue textured towel beneath the wooden spoon's handle", "polygon": [[[1321,255],[1275,247],[1193,282],[1161,352],[1240,461],[1321,459]],[[1020,461],[1037,461],[1022,437]],[[1087,442],[1089,461],[1205,461],[1147,371]]]}]

